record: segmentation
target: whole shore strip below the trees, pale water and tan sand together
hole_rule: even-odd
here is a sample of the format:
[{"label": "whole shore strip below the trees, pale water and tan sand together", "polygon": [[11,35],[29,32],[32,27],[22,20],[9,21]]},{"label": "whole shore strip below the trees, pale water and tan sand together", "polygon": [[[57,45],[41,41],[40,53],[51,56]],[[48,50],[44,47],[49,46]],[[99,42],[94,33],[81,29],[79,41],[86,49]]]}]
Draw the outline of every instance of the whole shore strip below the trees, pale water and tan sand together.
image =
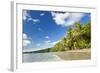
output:
[{"label": "whole shore strip below the trees, pale water and tan sand together", "polygon": [[67,60],[88,60],[91,59],[90,49],[70,50],[64,52],[29,53],[23,54],[23,62],[48,62]]}]

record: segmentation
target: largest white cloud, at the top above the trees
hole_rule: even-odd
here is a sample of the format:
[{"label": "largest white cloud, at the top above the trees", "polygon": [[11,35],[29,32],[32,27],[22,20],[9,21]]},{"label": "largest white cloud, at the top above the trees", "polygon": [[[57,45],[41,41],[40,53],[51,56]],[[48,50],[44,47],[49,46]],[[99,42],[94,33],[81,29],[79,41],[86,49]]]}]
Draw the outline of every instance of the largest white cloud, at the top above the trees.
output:
[{"label": "largest white cloud, at the top above the trees", "polygon": [[81,20],[81,18],[85,15],[84,13],[56,13],[51,12],[53,16],[53,20],[57,25],[62,26],[70,26],[73,25],[75,22],[78,22]]}]

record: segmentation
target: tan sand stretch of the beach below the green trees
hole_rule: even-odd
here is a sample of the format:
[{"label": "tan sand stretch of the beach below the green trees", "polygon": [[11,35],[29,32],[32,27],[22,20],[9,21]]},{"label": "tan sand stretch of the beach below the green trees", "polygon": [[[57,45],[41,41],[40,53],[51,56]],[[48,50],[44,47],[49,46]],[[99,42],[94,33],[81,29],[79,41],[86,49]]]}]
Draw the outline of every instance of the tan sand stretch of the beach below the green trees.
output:
[{"label": "tan sand stretch of the beach below the green trees", "polygon": [[55,55],[60,57],[62,60],[87,60],[91,59],[91,49],[56,52]]}]

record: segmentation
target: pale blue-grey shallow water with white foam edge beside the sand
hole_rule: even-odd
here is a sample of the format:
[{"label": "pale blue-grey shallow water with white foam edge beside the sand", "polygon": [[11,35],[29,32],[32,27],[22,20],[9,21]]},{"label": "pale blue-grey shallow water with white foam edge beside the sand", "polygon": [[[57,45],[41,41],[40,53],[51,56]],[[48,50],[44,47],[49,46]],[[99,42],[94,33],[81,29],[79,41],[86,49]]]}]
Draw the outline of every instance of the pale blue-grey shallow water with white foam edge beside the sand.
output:
[{"label": "pale blue-grey shallow water with white foam edge beside the sand", "polygon": [[23,62],[60,61],[61,59],[53,53],[30,53],[23,54]]}]

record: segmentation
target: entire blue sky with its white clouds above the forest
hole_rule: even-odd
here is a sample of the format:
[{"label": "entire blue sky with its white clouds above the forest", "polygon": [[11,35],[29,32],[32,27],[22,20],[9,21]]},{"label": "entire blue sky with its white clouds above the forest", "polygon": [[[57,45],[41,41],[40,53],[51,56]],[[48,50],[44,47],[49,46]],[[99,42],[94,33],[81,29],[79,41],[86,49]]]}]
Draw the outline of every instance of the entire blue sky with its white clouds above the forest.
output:
[{"label": "entire blue sky with its white clouds above the forest", "polygon": [[86,24],[90,19],[90,13],[23,10],[23,50],[53,47],[75,22]]}]

